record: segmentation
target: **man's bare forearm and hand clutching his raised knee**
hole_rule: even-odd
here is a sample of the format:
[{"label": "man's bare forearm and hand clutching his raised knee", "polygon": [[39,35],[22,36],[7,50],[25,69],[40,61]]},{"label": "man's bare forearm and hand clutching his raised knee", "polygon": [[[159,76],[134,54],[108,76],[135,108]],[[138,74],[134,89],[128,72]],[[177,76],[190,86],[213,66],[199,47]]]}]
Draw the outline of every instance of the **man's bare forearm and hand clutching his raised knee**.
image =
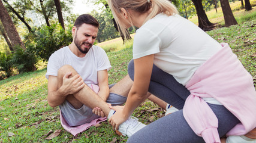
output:
[{"label": "man's bare forearm and hand clutching his raised knee", "polygon": [[57,76],[49,76],[47,101],[51,107],[61,105],[67,95],[75,94],[85,86],[82,77],[79,75],[70,76],[72,76],[71,72],[66,73],[62,81],[58,81]]}]

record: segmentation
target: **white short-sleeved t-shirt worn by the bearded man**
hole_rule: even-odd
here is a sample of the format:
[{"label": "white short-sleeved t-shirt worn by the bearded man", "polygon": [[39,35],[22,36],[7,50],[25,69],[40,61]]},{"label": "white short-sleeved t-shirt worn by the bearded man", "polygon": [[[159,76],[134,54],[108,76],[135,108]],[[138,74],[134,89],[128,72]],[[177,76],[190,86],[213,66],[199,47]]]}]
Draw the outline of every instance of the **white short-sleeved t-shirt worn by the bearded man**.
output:
[{"label": "white short-sleeved t-shirt worn by the bearded man", "polygon": [[87,85],[98,85],[97,71],[110,70],[112,68],[106,52],[99,46],[93,45],[83,58],[77,57],[68,46],[65,46],[50,56],[46,78],[57,76],[58,70],[66,64],[72,66]]}]

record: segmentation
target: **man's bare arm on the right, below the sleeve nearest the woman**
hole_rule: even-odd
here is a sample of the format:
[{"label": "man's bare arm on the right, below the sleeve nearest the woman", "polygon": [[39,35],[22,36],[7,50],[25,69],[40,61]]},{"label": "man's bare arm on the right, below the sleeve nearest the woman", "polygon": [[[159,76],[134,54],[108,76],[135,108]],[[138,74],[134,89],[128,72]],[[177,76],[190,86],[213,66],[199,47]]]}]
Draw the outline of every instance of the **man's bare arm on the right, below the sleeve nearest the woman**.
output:
[{"label": "man's bare arm on the right, below the sleeve nearest the woman", "polygon": [[107,98],[109,98],[109,80],[107,70],[98,71],[98,85],[100,88],[98,95],[101,99],[107,101]]}]

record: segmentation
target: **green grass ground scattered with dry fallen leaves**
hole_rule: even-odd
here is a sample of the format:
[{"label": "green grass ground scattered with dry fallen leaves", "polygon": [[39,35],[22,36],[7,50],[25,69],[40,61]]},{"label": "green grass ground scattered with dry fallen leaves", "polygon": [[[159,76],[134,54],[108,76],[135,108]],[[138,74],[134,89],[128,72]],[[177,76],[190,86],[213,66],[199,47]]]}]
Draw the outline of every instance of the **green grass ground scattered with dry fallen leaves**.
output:
[{"label": "green grass ground scattered with dry fallen leaves", "polygon": [[[245,16],[246,17],[246,16]],[[223,27],[207,32],[218,42],[230,44],[245,69],[252,74],[256,85],[256,19],[255,17],[236,26]],[[113,69],[109,82],[118,82],[127,74],[127,64],[132,58],[132,41],[122,45],[121,39],[99,43],[106,49]],[[74,137],[65,131],[59,121],[59,108],[47,104],[47,79],[45,63],[38,71],[19,74],[0,81],[0,143],[1,142],[125,142],[127,137],[118,136],[112,127],[103,122]],[[152,110],[155,109],[155,110]],[[134,116],[149,124],[159,119],[164,110],[151,101],[143,102]],[[55,130],[60,135],[47,140]]]}]

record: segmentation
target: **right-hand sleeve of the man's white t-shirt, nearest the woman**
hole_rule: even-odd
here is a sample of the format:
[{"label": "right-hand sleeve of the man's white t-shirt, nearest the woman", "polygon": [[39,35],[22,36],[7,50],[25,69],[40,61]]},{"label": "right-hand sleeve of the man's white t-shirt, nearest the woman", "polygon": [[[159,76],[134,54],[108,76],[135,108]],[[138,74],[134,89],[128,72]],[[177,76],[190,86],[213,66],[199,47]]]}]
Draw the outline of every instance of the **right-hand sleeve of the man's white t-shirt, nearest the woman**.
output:
[{"label": "right-hand sleeve of the man's white t-shirt, nearest the woman", "polygon": [[107,57],[106,52],[104,49],[98,47],[98,56],[97,56],[97,69],[100,70],[110,70],[112,66],[110,65],[109,58]]}]

